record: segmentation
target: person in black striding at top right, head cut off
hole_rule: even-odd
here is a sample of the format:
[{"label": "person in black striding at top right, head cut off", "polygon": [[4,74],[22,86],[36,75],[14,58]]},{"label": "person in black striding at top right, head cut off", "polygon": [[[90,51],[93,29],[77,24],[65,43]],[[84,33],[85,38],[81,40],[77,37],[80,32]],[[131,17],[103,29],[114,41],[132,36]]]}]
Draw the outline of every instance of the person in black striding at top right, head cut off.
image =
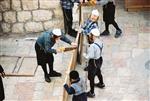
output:
[{"label": "person in black striding at top right, head cut off", "polygon": [[122,30],[119,28],[115,21],[115,3],[114,0],[99,0],[103,5],[103,20],[105,22],[105,30],[101,33],[101,36],[110,35],[109,25],[112,24],[116,28],[115,38],[118,38],[122,34]]}]

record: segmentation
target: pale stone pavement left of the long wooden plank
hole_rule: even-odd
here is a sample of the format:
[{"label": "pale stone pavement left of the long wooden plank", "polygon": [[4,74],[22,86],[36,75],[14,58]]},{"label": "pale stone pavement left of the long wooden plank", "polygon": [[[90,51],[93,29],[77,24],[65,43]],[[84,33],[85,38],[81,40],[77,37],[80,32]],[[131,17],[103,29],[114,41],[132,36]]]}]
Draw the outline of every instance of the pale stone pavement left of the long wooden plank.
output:
[{"label": "pale stone pavement left of the long wooden plank", "polygon": [[[0,64],[4,67],[6,74],[32,74],[36,69],[36,58],[34,44],[35,40],[26,40],[26,38],[36,38],[37,35],[31,36],[2,36],[0,37]],[[74,39],[71,39],[74,40]],[[54,48],[60,46],[69,46],[68,44],[60,41]],[[51,78],[51,83],[46,83],[42,68],[38,66],[34,76],[13,76],[3,79],[5,88],[5,101],[61,101],[63,95],[63,83],[65,82],[66,70],[71,58],[72,52],[60,53],[54,55],[54,70],[60,71],[63,76],[61,78]],[[7,55],[3,56],[3,55]],[[10,56],[10,57],[9,57]],[[22,65],[21,60],[18,61],[16,68],[16,57],[13,56],[27,56],[33,57],[24,59]],[[20,66],[18,68],[18,65]],[[18,68],[18,69],[17,69]]]}]

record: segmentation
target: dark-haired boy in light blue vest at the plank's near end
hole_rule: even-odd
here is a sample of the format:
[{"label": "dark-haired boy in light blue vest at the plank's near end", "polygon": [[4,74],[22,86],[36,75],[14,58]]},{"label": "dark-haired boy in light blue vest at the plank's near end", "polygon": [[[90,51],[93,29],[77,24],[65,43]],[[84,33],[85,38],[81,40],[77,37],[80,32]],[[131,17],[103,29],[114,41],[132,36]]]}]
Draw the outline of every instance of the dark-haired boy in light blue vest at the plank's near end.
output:
[{"label": "dark-haired boy in light blue vest at the plank's near end", "polygon": [[69,73],[71,86],[64,85],[65,90],[68,94],[73,94],[72,101],[87,101],[85,93],[85,82],[79,77],[79,73],[75,70]]}]

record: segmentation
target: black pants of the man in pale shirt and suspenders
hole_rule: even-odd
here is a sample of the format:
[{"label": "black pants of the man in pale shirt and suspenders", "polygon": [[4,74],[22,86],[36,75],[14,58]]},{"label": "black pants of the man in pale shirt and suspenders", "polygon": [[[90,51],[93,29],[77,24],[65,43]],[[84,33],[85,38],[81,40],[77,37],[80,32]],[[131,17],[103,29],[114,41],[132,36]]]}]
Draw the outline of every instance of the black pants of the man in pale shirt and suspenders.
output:
[{"label": "black pants of the man in pale shirt and suspenders", "polygon": [[[100,57],[98,60],[90,59],[88,64],[88,79],[90,80],[91,93],[94,93],[94,79],[98,77],[99,82],[103,84],[103,76],[101,74],[101,65],[103,58]],[[95,66],[96,64],[96,66]]]}]

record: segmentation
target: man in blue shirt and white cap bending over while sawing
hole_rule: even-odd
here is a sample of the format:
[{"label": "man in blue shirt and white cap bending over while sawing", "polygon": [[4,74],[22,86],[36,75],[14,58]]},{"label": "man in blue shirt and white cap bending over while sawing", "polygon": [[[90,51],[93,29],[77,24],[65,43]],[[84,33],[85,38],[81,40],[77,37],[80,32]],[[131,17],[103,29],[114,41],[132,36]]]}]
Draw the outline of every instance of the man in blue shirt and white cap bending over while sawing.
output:
[{"label": "man in blue shirt and white cap bending over while sawing", "polygon": [[[41,65],[44,71],[46,82],[51,82],[50,77],[60,77],[61,73],[53,70],[54,57],[53,53],[57,54],[60,50],[53,49],[52,47],[58,40],[63,40],[71,45],[76,46],[76,43],[71,42],[66,38],[60,29],[53,29],[42,33],[35,43],[35,50],[37,55],[37,63]],[[49,73],[47,72],[46,64],[49,65]]]}]

